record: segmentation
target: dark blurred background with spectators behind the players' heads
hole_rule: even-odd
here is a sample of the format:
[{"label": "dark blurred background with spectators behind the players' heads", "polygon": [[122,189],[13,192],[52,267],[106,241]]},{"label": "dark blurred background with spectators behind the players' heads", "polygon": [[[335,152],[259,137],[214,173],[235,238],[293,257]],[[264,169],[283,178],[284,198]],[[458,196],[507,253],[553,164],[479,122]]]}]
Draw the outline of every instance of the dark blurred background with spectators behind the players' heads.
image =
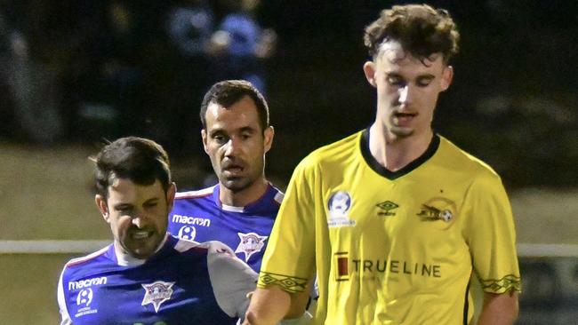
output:
[{"label": "dark blurred background with spectators behind the players' heads", "polygon": [[[362,33],[392,3],[0,0],[0,137],[50,146],[132,134],[204,155],[203,94],[244,78],[269,99],[268,169],[288,179],[309,150],[371,123]],[[576,186],[576,2],[429,4],[462,34],[436,130],[508,186]]]}]

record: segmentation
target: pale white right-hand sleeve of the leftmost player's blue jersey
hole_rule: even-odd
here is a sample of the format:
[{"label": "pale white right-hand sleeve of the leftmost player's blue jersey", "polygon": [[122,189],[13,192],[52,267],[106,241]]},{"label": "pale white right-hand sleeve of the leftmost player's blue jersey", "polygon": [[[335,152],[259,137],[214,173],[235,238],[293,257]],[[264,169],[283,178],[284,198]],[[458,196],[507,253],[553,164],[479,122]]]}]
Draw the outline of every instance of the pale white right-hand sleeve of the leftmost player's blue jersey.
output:
[{"label": "pale white right-hand sleeve of the leftmost player's blue jersey", "polygon": [[255,289],[257,273],[222,242],[208,242],[209,278],[221,310],[230,317],[245,317],[247,294]]}]

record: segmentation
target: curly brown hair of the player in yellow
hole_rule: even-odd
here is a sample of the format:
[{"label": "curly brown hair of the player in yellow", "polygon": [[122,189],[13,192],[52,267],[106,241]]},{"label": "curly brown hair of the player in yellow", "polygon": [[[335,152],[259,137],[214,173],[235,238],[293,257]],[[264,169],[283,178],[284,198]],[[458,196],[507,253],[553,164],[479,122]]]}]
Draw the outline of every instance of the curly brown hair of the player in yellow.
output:
[{"label": "curly brown hair of the player in yellow", "polygon": [[447,63],[457,54],[460,33],[445,9],[427,4],[394,5],[365,28],[364,43],[375,59],[383,42],[396,40],[415,58],[427,59],[441,52]]}]

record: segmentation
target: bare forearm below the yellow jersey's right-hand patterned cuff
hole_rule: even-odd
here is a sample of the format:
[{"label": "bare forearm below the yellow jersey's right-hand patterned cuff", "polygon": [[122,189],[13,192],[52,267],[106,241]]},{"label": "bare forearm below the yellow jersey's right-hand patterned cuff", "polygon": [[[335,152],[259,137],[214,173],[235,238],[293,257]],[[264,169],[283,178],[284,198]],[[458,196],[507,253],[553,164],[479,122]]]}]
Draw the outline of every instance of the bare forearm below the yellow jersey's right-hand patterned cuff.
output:
[{"label": "bare forearm below the yellow jersey's right-hand patterned cuff", "polygon": [[518,292],[484,293],[478,325],[510,325],[518,318]]}]

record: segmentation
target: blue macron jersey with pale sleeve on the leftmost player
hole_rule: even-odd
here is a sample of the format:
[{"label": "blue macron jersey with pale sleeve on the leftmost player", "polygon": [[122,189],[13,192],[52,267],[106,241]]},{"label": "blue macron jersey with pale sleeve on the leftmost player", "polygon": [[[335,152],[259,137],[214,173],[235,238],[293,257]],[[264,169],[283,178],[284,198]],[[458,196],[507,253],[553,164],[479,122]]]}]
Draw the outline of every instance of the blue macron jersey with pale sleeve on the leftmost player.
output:
[{"label": "blue macron jersey with pale sleeve on the leftmost player", "polygon": [[146,261],[111,244],[64,266],[61,324],[235,324],[245,315],[256,279],[221,242],[167,235]]}]

